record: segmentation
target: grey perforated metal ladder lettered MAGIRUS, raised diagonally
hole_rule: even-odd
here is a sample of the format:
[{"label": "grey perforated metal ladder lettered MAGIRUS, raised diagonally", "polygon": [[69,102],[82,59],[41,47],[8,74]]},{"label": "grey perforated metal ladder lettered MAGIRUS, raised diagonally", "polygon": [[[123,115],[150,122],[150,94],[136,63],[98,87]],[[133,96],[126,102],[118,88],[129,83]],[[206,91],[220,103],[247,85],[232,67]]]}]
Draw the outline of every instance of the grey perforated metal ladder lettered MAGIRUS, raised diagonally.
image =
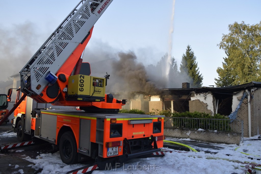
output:
[{"label": "grey perforated metal ladder lettered MAGIRUS, raised diagonally", "polygon": [[49,71],[57,73],[77,46],[85,41],[111,2],[81,0],[20,71],[21,89],[39,95],[48,84],[45,75]]}]

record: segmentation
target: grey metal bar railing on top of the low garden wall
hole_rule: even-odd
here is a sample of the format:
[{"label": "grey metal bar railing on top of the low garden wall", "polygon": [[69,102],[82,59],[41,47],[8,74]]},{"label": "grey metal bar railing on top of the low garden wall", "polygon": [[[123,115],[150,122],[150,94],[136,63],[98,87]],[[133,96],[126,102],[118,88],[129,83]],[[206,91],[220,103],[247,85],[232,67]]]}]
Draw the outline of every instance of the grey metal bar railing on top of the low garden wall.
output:
[{"label": "grey metal bar railing on top of the low garden wall", "polygon": [[244,130],[243,120],[211,119],[211,118],[165,117],[164,127],[228,131],[228,132],[242,133],[242,135]]}]

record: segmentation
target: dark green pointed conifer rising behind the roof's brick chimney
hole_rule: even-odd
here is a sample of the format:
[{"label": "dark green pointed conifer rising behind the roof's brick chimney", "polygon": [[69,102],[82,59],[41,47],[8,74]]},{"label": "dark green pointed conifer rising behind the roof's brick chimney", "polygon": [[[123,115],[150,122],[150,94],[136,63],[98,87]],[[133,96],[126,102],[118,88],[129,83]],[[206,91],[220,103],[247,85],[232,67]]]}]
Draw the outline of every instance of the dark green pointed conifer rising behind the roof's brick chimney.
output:
[{"label": "dark green pointed conifer rising behind the roof's brick chimney", "polygon": [[201,87],[203,76],[199,74],[198,63],[196,62],[196,56],[192,51],[190,45],[187,46],[186,53],[182,55],[180,64],[180,73],[188,75],[189,82],[192,81],[191,87]]}]

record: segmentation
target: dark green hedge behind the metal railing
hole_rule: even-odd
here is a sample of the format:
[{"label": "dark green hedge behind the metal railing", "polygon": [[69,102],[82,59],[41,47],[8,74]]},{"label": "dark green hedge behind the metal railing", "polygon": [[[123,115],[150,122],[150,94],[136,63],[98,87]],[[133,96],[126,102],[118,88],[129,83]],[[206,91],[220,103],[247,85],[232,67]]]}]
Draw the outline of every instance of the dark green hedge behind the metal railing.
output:
[{"label": "dark green hedge behind the metal railing", "polygon": [[[231,130],[228,125],[229,121],[223,120],[211,120],[211,119],[229,119],[228,117],[220,114],[215,114],[214,116],[204,113],[204,112],[176,112],[173,113],[172,117],[182,117],[174,118],[173,125],[180,128],[188,129],[211,129],[211,130]],[[184,119],[183,119],[184,118]],[[192,119],[197,118],[197,119]],[[205,118],[205,119],[199,119]]]}]

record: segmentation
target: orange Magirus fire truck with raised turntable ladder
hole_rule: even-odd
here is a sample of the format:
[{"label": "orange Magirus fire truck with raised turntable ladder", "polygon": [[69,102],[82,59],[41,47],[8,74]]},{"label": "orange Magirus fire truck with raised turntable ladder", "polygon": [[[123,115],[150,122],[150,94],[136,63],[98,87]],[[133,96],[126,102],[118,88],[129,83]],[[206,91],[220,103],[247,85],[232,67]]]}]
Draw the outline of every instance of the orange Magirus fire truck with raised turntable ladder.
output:
[{"label": "orange Magirus fire truck with raised turntable ladder", "polygon": [[[6,115],[14,111],[19,141],[52,143],[66,164],[90,158],[99,164],[123,163],[163,147],[164,116],[118,113],[126,100],[105,94],[109,75],[90,76],[90,64],[82,63],[93,25],[111,2],[81,0],[76,5],[20,71],[16,104]],[[76,106],[80,110],[68,110]]]}]

